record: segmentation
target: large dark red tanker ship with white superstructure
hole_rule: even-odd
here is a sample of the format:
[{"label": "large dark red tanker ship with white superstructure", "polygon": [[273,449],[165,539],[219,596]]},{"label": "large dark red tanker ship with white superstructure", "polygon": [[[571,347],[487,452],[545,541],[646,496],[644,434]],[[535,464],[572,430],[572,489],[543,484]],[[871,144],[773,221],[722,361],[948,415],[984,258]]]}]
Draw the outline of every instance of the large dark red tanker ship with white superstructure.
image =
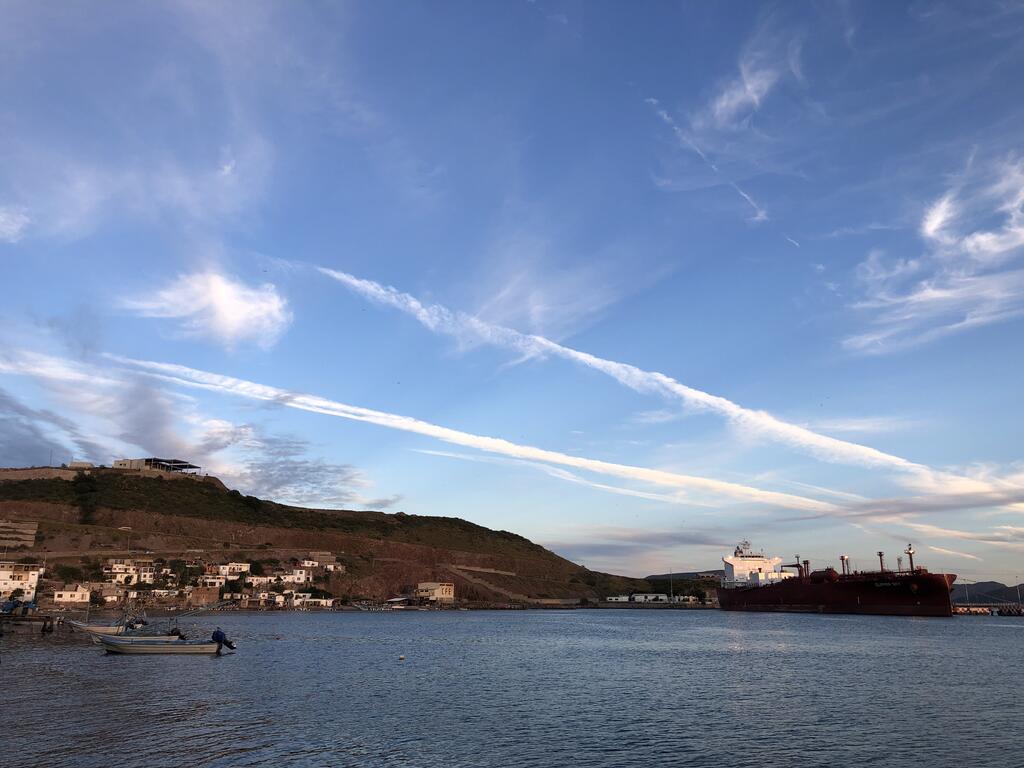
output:
[{"label": "large dark red tanker ship with white superstructure", "polygon": [[884,553],[878,554],[879,570],[852,570],[846,555],[840,556],[842,572],[833,567],[811,570],[799,556],[796,562],[782,564],[781,558],[754,553],[742,542],[731,557],[722,558],[725,575],[718,603],[723,610],[952,615],[949,593],[954,573],[930,573],[914,566],[909,545],[904,550],[908,568],[900,562],[896,570],[888,569]]}]

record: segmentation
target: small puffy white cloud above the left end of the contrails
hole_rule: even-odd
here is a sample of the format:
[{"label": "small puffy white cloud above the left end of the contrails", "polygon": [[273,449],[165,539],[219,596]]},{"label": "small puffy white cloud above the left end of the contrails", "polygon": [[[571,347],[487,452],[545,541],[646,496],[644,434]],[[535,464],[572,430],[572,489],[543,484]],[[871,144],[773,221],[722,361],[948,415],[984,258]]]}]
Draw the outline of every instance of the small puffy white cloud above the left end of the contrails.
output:
[{"label": "small puffy white cloud above the left end of the contrails", "polygon": [[125,299],[122,306],[143,317],[179,319],[186,335],[229,347],[270,347],[292,322],[288,302],[273,285],[250,287],[216,272],[183,274],[148,296]]}]

